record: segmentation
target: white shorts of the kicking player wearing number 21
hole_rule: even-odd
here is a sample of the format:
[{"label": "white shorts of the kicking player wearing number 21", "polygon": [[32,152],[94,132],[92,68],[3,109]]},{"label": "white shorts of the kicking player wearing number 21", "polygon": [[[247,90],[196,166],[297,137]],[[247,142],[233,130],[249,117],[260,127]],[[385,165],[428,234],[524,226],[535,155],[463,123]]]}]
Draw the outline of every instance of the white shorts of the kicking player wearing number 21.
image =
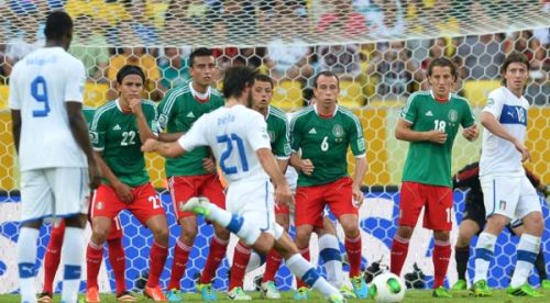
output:
[{"label": "white shorts of the kicking player wearing number 21", "polygon": [[283,227],[275,222],[273,191],[270,181],[231,183],[226,195],[226,209],[278,239],[283,234]]}]

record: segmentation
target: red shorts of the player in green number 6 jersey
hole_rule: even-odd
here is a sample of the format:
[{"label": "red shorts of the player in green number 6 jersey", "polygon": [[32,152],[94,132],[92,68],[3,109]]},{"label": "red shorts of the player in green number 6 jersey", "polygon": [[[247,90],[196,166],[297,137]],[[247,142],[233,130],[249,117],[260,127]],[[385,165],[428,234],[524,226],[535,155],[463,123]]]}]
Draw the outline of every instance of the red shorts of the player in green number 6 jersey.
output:
[{"label": "red shorts of the player in green number 6 jersey", "polygon": [[298,187],[296,190],[296,226],[315,225],[322,227],[322,214],[328,204],[339,218],[344,214],[358,214],[353,205],[353,180],[343,177],[334,182],[314,187]]}]

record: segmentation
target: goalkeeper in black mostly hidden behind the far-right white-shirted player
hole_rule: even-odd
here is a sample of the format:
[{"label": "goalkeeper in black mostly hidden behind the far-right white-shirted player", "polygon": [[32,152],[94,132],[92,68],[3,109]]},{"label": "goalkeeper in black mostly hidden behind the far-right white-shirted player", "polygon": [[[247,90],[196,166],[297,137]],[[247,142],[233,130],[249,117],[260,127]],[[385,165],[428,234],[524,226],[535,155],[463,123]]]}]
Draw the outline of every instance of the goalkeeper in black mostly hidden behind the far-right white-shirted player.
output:
[{"label": "goalkeeper in black mostly hidden behind the far-right white-shirted player", "polygon": [[[525,169],[529,182],[548,197],[547,187],[527,168]],[[457,245],[454,247],[454,258],[457,260],[457,271],[459,273],[459,280],[452,287],[453,291],[462,291],[468,289],[466,283],[466,268],[468,260],[470,258],[470,240],[474,235],[479,235],[486,223],[485,220],[485,205],[483,204],[483,192],[480,183],[480,164],[473,162],[464,168],[462,168],[452,178],[453,188],[468,189],[466,194],[466,205],[464,211],[464,217],[460,223],[459,238],[457,239]],[[507,227],[514,235],[521,236],[524,228],[522,222],[519,220],[518,225],[509,224]],[[542,251],[542,246],[537,255],[537,260],[535,260],[535,267],[539,272],[540,287],[541,289],[550,289],[550,280],[548,280],[548,274],[546,270],[544,252]]]}]

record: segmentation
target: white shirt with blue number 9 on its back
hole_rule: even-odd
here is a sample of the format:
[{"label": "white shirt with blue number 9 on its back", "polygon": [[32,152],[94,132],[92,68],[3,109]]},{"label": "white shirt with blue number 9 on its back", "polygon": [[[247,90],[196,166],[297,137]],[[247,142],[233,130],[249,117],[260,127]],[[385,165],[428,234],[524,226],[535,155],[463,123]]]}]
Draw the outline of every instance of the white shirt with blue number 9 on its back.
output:
[{"label": "white shirt with blue number 9 on its back", "polygon": [[82,63],[62,47],[45,47],[13,67],[9,104],[21,111],[21,170],[87,167],[73,137],[65,102],[82,102]]}]

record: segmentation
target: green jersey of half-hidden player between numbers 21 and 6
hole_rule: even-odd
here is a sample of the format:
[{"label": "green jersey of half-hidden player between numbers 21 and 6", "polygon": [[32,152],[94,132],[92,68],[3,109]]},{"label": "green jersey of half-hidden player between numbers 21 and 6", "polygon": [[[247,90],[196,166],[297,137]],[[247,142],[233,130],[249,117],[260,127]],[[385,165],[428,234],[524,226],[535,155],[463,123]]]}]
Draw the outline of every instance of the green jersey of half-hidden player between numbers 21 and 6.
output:
[{"label": "green jersey of half-hidden player between numbers 21 and 6", "polygon": [[279,109],[270,105],[267,111],[267,134],[272,145],[272,153],[277,159],[290,157],[290,144],[288,143],[288,121]]}]

